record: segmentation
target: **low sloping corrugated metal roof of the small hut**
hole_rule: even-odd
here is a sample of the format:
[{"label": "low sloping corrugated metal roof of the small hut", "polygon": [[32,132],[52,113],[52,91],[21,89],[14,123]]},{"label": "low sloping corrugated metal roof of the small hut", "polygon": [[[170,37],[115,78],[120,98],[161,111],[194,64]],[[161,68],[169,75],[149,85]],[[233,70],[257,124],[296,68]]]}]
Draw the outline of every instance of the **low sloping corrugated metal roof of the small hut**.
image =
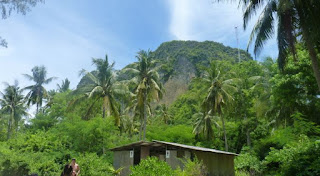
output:
[{"label": "low sloping corrugated metal roof of the small hut", "polygon": [[175,147],[180,147],[180,148],[185,148],[185,149],[190,149],[190,150],[197,150],[197,151],[202,151],[202,152],[212,152],[212,153],[220,153],[220,154],[226,154],[226,155],[237,155],[235,153],[216,150],[216,149],[210,149],[210,148],[204,148],[204,147],[196,147],[196,146],[191,146],[191,145],[178,144],[178,143],[165,142],[165,141],[158,141],[158,140],[152,140],[152,142],[138,141],[138,142],[131,143],[131,144],[128,144],[128,145],[115,147],[115,148],[112,148],[110,150],[111,151],[131,150],[133,147],[137,147],[137,146],[155,146],[155,144],[171,145],[171,146],[175,146]]}]

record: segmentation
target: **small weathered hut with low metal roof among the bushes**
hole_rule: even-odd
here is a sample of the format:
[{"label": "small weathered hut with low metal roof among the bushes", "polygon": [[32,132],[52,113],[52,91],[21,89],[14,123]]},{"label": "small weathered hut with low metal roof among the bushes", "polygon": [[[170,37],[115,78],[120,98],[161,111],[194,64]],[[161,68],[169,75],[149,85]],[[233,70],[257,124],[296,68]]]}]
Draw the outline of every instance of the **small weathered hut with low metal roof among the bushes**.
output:
[{"label": "small weathered hut with low metal roof among the bushes", "polygon": [[172,142],[153,140],[152,142],[139,141],[136,143],[111,149],[114,152],[113,166],[115,169],[123,167],[121,175],[130,174],[130,166],[140,163],[148,156],[158,157],[166,161],[173,169],[183,168],[182,159],[201,160],[209,172],[209,176],[233,176],[235,153],[196,147]]}]

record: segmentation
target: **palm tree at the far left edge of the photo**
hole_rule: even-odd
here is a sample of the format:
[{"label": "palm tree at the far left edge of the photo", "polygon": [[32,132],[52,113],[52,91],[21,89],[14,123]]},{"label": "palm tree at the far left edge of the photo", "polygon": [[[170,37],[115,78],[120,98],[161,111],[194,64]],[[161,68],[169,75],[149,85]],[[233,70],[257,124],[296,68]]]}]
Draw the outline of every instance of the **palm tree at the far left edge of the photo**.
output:
[{"label": "palm tree at the far left edge of the photo", "polygon": [[22,94],[23,89],[20,89],[18,82],[15,81],[14,85],[5,83],[5,86],[4,92],[0,92],[0,105],[1,113],[6,114],[8,117],[7,139],[9,139],[13,128],[18,129],[22,116],[26,116],[28,113],[26,112],[27,108]]}]

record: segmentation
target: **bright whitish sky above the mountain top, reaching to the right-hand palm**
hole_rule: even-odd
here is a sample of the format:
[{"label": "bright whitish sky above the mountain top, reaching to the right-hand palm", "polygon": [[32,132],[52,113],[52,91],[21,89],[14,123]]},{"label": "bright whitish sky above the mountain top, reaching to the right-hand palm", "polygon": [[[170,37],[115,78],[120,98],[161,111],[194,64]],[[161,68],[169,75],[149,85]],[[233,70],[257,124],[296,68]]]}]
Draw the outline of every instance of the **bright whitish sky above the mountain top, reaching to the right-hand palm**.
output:
[{"label": "bright whitish sky above the mountain top, reaching to the right-hand palm", "polygon": [[[169,31],[177,40],[212,40],[237,47],[235,27],[238,26],[240,48],[246,49],[250,31],[258,16],[243,30],[242,10],[237,3],[213,0],[167,0],[170,9]],[[258,13],[259,14],[259,13]],[[276,56],[276,43],[271,40],[261,53]],[[251,50],[250,50],[251,51]]]}]

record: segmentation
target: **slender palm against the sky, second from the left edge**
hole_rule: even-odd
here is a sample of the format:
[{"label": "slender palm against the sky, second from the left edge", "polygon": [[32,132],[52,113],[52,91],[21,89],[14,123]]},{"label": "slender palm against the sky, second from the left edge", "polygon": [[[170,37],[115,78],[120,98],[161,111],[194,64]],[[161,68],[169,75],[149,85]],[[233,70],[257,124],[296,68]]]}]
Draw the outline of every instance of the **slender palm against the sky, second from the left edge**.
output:
[{"label": "slender palm against the sky, second from the left edge", "polygon": [[38,113],[39,109],[42,107],[43,99],[48,98],[48,92],[44,88],[44,85],[49,84],[56,79],[56,77],[47,78],[47,69],[44,66],[35,66],[32,68],[31,72],[32,75],[23,75],[30,81],[35,82],[35,84],[25,87],[24,90],[29,90],[29,93],[26,95],[28,106],[30,106],[30,104],[36,104],[36,112]]}]

